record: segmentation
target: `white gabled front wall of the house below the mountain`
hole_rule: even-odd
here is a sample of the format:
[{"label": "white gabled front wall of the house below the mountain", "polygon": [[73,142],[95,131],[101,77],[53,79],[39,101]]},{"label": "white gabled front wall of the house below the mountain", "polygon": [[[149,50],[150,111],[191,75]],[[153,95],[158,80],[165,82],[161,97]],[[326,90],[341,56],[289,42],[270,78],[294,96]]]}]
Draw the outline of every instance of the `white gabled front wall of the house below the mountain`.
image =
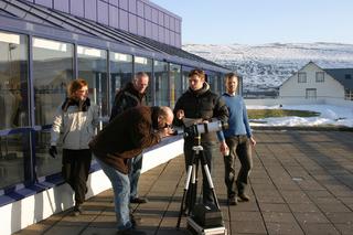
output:
[{"label": "white gabled front wall of the house below the mountain", "polygon": [[[298,73],[307,73],[307,83],[298,83]],[[310,62],[298,73],[289,77],[280,87],[279,96],[281,98],[306,98],[307,88],[317,89],[317,98],[342,98],[344,99],[344,87],[332,76],[324,72],[324,82],[315,81],[315,73],[324,72],[314,63]]]}]

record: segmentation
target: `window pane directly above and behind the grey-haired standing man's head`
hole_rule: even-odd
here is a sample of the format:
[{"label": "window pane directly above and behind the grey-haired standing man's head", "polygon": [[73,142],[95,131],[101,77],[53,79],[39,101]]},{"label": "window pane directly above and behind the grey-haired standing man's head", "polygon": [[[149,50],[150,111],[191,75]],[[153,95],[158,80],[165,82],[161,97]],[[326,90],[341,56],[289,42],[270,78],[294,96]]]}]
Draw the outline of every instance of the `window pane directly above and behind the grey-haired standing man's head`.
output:
[{"label": "window pane directly above and behind the grey-haired standing man's head", "polygon": [[145,72],[148,74],[149,81],[149,88],[147,88],[147,105],[152,106],[154,105],[154,95],[152,89],[152,60],[147,57],[135,56],[135,74],[138,72]]}]

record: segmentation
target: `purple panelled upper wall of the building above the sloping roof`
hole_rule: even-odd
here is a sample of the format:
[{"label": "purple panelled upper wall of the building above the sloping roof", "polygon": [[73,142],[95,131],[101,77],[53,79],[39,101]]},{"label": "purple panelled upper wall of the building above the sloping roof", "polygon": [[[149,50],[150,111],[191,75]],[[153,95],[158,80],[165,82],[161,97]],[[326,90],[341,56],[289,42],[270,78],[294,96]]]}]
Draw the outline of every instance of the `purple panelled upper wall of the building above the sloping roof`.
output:
[{"label": "purple panelled upper wall of the building above the sloping roof", "polygon": [[182,19],[148,0],[26,0],[181,47]]}]

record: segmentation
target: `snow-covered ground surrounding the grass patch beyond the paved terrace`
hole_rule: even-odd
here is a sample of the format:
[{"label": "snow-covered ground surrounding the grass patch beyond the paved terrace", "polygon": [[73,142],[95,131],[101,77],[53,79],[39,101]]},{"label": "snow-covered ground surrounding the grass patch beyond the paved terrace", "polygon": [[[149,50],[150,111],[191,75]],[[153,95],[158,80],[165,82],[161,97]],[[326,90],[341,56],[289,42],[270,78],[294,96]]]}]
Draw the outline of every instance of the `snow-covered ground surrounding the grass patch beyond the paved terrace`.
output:
[{"label": "snow-covered ground surrounding the grass patch beyond the paved terrace", "polygon": [[[275,109],[277,106],[254,106],[248,105],[247,109]],[[352,107],[339,107],[332,105],[284,105],[282,109],[310,110],[321,115],[318,117],[278,117],[250,120],[250,126],[344,126],[353,127],[353,104]]]}]

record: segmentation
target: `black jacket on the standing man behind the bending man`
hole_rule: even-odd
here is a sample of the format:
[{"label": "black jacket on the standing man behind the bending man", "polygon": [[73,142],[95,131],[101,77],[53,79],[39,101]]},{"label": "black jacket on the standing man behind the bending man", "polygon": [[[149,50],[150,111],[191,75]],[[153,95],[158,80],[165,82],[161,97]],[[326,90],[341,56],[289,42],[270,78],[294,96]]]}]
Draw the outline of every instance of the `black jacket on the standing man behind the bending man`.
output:
[{"label": "black jacket on the standing man behind the bending man", "polygon": [[129,82],[126,86],[120,89],[115,98],[110,114],[110,121],[117,115],[121,114],[126,109],[143,105],[146,106],[146,93],[140,94],[135,89],[133,84]]}]

